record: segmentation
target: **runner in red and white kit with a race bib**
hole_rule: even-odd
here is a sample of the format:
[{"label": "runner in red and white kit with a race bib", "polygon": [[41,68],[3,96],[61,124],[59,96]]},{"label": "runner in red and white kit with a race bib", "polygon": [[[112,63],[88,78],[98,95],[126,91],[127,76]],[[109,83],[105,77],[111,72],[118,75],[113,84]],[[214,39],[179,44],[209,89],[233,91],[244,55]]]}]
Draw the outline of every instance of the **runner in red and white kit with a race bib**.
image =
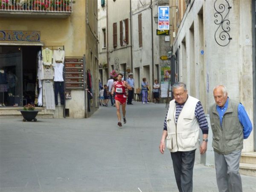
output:
[{"label": "runner in red and white kit with a race bib", "polygon": [[125,106],[126,106],[126,93],[125,89],[128,88],[128,90],[132,90],[132,87],[126,82],[122,81],[123,74],[119,73],[117,75],[117,81],[114,82],[111,94],[113,95],[114,92],[116,93],[115,100],[116,100],[116,115],[118,118],[118,123],[117,125],[119,127],[122,127],[122,122],[121,122],[121,113],[120,113],[120,105],[122,105],[122,114],[123,114],[123,120],[124,124],[126,123],[125,119]]}]

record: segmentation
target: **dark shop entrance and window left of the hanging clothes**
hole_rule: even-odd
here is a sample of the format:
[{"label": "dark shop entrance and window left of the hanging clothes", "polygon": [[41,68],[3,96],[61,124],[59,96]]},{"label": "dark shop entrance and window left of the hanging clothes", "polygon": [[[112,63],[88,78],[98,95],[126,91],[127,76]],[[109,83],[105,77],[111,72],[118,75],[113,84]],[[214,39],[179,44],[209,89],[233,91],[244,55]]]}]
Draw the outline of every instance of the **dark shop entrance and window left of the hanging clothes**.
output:
[{"label": "dark shop entrance and window left of the hanging clothes", "polygon": [[0,107],[35,103],[41,46],[0,46]]}]

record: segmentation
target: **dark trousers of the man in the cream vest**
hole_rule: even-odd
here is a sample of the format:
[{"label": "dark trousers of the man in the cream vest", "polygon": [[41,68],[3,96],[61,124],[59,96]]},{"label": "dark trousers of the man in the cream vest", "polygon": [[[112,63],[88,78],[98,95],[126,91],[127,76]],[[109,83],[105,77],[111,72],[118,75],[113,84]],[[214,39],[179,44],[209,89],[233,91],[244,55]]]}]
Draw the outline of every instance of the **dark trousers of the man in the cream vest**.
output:
[{"label": "dark trousers of the man in the cream vest", "polygon": [[171,152],[177,187],[180,192],[192,192],[195,150]]}]

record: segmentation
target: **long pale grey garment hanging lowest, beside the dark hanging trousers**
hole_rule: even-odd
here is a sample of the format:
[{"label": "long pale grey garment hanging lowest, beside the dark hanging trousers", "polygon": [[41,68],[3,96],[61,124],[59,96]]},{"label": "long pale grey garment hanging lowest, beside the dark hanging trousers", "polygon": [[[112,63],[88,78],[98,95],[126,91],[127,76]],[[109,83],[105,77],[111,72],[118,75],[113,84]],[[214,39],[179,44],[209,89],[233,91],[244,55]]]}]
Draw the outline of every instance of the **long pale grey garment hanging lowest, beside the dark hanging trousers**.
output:
[{"label": "long pale grey garment hanging lowest, beside the dark hanging trousers", "polygon": [[46,109],[55,110],[53,86],[52,86],[52,82],[49,80],[44,80],[44,95],[45,95]]}]

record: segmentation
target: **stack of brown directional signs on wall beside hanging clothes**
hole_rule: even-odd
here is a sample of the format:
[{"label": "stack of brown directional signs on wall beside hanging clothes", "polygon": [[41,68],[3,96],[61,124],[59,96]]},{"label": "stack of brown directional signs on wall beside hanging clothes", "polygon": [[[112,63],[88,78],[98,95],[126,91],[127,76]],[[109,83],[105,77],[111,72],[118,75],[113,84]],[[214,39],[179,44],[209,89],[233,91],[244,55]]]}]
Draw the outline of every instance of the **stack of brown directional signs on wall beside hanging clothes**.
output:
[{"label": "stack of brown directional signs on wall beside hanging clothes", "polygon": [[65,58],[65,85],[67,89],[84,88],[84,62],[82,58]]}]

